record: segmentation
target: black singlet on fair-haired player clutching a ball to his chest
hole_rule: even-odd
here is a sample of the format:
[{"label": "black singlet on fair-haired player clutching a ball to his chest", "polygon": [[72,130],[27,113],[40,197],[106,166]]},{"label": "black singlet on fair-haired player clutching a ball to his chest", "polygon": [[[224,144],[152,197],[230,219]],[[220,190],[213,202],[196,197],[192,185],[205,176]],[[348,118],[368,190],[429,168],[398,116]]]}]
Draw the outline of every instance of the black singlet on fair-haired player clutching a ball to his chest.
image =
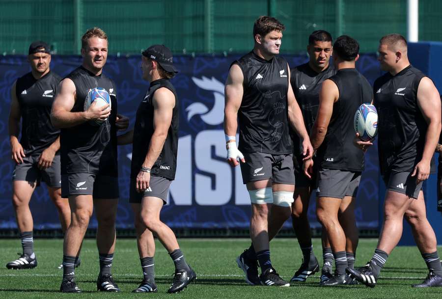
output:
[{"label": "black singlet on fair-haired player clutching a ball to his chest", "polygon": [[118,176],[115,84],[104,74],[95,76],[83,66],[66,76],[75,84],[76,99],[72,112],[83,111],[90,89],[105,88],[111,96],[111,115],[101,125],[92,121],[61,129],[61,174],[91,173]]}]

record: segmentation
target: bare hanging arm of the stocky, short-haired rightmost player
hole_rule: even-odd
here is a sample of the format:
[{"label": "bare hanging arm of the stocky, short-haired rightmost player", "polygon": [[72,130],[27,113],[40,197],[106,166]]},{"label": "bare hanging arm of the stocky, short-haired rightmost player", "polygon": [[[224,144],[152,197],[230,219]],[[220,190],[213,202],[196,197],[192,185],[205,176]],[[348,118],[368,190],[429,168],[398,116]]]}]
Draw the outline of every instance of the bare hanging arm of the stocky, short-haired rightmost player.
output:
[{"label": "bare hanging arm of the stocky, short-haired rightmost player", "polygon": [[424,77],[417,87],[417,105],[428,124],[422,160],[414,167],[417,182],[428,179],[430,162],[441,134],[441,99],[433,82]]}]

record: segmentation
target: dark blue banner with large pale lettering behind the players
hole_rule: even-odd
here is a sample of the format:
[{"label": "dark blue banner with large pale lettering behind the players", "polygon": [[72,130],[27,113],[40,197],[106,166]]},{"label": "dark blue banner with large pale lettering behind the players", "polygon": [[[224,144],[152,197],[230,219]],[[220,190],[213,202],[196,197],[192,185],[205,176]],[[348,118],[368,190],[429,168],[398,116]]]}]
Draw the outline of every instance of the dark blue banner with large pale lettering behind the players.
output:
[{"label": "dark blue banner with large pale lettering behind the players", "polygon": [[[306,56],[284,55],[291,67],[307,61]],[[224,82],[229,65],[239,56],[175,56],[179,70],[172,79],[180,105],[180,132],[176,180],[170,187],[170,204],[162,210],[167,225],[180,228],[248,228],[249,193],[242,183],[239,167],[232,169],[226,162],[222,128]],[[140,56],[109,57],[105,73],[117,88],[118,113],[131,119],[149,83],[141,79]],[[51,70],[67,75],[81,64],[78,56],[53,56]],[[375,54],[361,55],[359,71],[370,83],[380,76]],[[0,58],[0,228],[16,228],[11,202],[11,161],[7,119],[10,89],[13,82],[30,71],[26,56]],[[133,215],[128,203],[132,146],[118,149],[120,202],[117,228],[132,228]],[[378,228],[378,162],[376,146],[366,154],[366,166],[359,188],[356,219],[359,228]],[[58,215],[47,195],[44,184],[36,188],[31,199],[35,229],[59,228]],[[319,227],[314,212],[314,200],[309,209],[310,224]],[[94,218],[95,219],[95,218]],[[92,219],[90,227],[96,227]],[[285,224],[290,227],[289,221]]]}]

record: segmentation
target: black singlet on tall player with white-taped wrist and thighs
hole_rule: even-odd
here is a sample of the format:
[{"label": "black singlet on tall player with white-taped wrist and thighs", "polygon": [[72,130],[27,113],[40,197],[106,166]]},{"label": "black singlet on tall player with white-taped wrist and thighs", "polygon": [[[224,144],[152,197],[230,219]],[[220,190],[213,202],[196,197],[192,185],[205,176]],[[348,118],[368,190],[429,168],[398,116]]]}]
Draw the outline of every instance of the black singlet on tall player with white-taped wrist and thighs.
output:
[{"label": "black singlet on tall player with white-taped wrist and thighs", "polygon": [[291,154],[287,61],[279,56],[265,60],[252,51],[235,63],[244,76],[238,149],[243,153]]}]

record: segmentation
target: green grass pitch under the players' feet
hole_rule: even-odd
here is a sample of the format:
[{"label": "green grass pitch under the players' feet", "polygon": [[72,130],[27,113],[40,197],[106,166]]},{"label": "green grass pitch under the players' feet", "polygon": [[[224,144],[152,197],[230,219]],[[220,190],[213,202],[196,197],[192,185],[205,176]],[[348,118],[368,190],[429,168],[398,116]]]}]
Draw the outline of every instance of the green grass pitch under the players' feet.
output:
[{"label": "green grass pitch under the players' feet", "polygon": [[[376,246],[374,239],[361,239],[356,265],[368,261]],[[390,255],[374,289],[365,286],[319,287],[319,273],[304,283],[289,288],[249,286],[235,258],[249,245],[246,239],[183,239],[180,245],[186,260],[197,273],[197,280],[179,294],[166,294],[174,271],[166,250],[157,242],[155,256],[156,294],[132,294],[142,274],[134,239],[117,240],[112,272],[122,293],[105,294],[96,291],[98,252],[94,240],[85,240],[81,254],[82,265],[77,268],[77,282],[83,294],[60,294],[58,289],[62,270],[57,266],[62,259],[62,240],[36,239],[38,267],[32,270],[7,270],[7,262],[16,259],[21,251],[19,240],[0,240],[0,298],[189,298],[189,299],[267,299],[267,298],[321,298],[321,299],[407,299],[442,298],[442,288],[414,289],[411,284],[427,275],[425,263],[415,247],[398,247]],[[322,263],[320,240],[314,240],[315,253]],[[441,253],[442,248],[439,248]],[[279,274],[290,279],[301,263],[301,251],[295,239],[276,239],[271,243],[272,263]]]}]

